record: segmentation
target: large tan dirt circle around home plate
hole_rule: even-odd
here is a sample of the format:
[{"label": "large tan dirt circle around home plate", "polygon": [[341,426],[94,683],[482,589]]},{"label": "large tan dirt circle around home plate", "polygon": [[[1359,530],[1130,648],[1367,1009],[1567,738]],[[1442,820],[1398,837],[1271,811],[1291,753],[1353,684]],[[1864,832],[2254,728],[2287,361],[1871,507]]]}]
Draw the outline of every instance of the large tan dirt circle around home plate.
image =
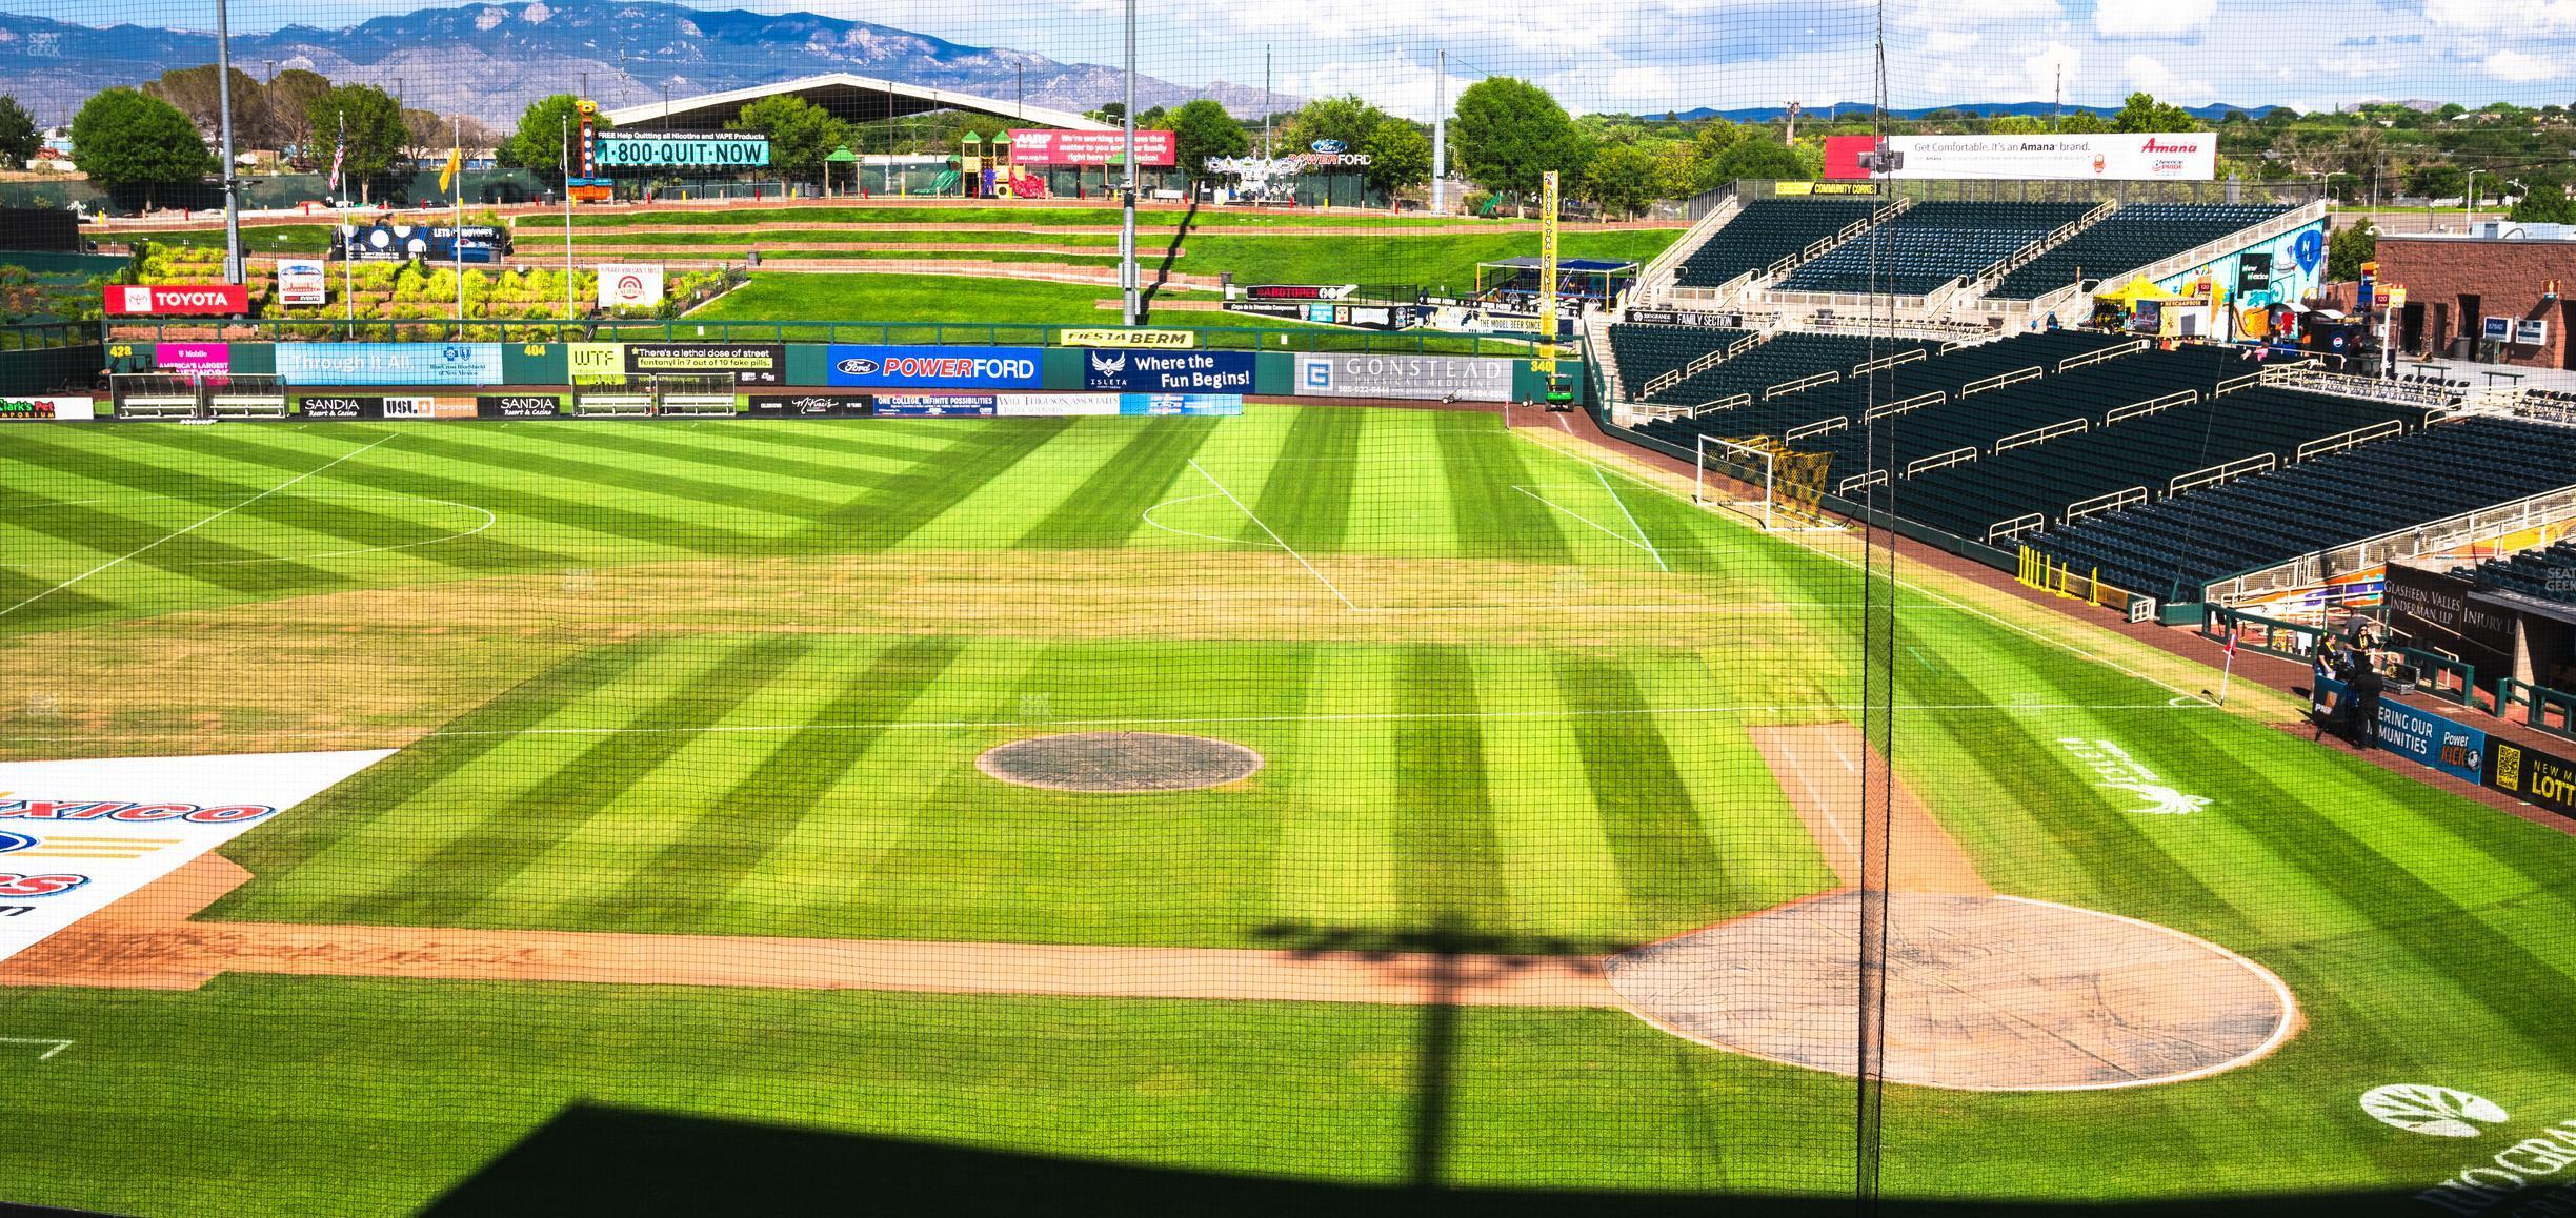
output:
[{"label": "large tan dirt circle around home plate", "polygon": [[[1860,894],[1607,960],[1636,1015],[1705,1045],[1857,1074]],[[2295,1030],[2272,971],[2177,930],[2020,896],[1888,894],[1886,1079],[1978,1092],[2143,1087]]]}]

